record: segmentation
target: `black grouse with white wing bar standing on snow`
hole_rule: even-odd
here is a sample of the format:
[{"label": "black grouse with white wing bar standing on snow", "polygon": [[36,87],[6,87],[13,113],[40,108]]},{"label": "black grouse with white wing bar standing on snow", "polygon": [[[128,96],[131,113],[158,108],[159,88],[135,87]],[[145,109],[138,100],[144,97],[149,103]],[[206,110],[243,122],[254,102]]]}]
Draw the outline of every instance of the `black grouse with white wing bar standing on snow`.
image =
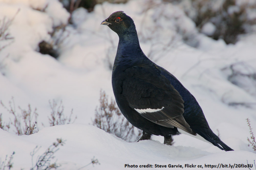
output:
[{"label": "black grouse with white wing bar standing on snow", "polygon": [[131,17],[116,11],[101,24],[119,36],[113,92],[125,118],[143,130],[140,140],[160,135],[165,144],[172,145],[172,136],[183,131],[199,135],[221,150],[233,150],[212,132],[195,97],[176,77],[145,56]]}]

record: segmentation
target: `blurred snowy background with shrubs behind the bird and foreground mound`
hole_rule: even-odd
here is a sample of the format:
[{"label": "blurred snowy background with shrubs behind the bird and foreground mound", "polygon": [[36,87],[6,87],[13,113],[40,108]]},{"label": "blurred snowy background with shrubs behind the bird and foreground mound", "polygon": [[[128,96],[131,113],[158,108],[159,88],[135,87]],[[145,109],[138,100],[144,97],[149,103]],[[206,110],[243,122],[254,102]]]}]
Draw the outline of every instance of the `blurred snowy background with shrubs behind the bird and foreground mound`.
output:
[{"label": "blurred snowy background with shrubs behind the bird and foreground mound", "polygon": [[[0,128],[23,135],[35,122],[37,131],[81,123],[128,142],[140,136],[113,97],[119,39],[100,23],[115,11],[134,20],[146,56],[195,96],[212,130],[252,152],[256,0],[0,0]],[[175,145],[215,151],[193,140]]]}]

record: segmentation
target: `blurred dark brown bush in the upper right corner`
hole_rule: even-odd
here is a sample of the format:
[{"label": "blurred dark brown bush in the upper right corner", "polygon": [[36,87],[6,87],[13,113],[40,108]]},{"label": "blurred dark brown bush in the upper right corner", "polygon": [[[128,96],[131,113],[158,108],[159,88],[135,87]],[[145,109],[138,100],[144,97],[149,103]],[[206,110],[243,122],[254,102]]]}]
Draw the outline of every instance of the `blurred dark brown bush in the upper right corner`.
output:
[{"label": "blurred dark brown bush in the upper right corner", "polygon": [[[178,0],[178,3],[181,3]],[[215,31],[214,40],[223,39],[227,44],[236,43],[239,35],[253,31],[256,19],[248,17],[248,13],[256,8],[256,2],[246,1],[239,4],[238,0],[224,0],[223,3],[212,0],[190,0],[191,6],[185,8],[186,14],[195,22],[199,31],[206,23],[212,23]],[[241,1],[240,1],[241,2]],[[176,1],[177,3],[177,1]]]}]

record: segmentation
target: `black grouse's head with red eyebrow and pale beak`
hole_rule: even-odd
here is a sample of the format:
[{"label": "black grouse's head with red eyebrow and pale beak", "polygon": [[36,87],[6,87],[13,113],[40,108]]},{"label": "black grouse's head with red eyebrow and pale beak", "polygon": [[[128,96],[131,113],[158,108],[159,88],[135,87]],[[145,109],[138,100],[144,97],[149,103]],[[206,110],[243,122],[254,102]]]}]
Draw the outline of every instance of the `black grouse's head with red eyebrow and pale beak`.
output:
[{"label": "black grouse's head with red eyebrow and pale beak", "polygon": [[119,36],[136,32],[134,21],[123,11],[114,12],[106,20],[102,21],[101,25],[108,26]]}]

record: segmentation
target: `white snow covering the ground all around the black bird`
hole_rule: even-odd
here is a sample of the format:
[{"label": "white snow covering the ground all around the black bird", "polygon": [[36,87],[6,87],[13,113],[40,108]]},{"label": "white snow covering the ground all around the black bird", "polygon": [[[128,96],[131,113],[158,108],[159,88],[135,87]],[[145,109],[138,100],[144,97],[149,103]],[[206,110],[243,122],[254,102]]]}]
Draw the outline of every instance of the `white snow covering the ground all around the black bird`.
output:
[{"label": "white snow covering the ground all around the black bird", "polygon": [[[249,118],[256,130],[255,77],[230,77],[234,70],[255,75],[256,34],[244,35],[235,45],[226,45],[223,40],[215,41],[198,33],[195,23],[178,6],[157,0],[151,1],[154,5],[147,2],[103,3],[91,13],[77,9],[72,16],[73,25],[67,26],[62,34],[64,39],[58,45],[60,56],[56,60],[39,53],[38,43],[51,41],[48,33],[53,27],[67,24],[69,14],[61,4],[57,0],[0,0],[0,20],[14,18],[9,27],[13,42],[0,51],[0,100],[8,106],[13,97],[17,112],[18,106],[25,109],[30,104],[39,114],[38,133],[16,136],[13,127],[9,132],[0,129],[2,160],[15,151],[13,169],[29,169],[30,153],[36,145],[42,146],[40,155],[56,138],[62,138],[66,144],[55,158],[63,170],[77,170],[90,163],[93,156],[100,164],[85,169],[128,169],[125,164],[159,164],[167,168],[168,164],[184,168],[185,164],[196,164],[206,168],[208,164],[247,161],[256,168],[256,154],[248,146],[250,132],[246,122]],[[89,125],[99,105],[100,89],[113,97],[109,67],[113,64],[118,36],[100,23],[114,11],[125,11],[134,19],[144,53],[189,89],[212,130],[235,151],[224,152],[186,135],[175,136],[173,146],[164,145],[159,136],[151,141],[125,142]],[[186,43],[182,41],[184,37]],[[0,41],[0,46],[10,41]],[[73,108],[78,117],[74,124],[42,126],[49,126],[52,99],[63,102],[66,115]],[[3,122],[13,119],[2,106],[0,113]]]}]

